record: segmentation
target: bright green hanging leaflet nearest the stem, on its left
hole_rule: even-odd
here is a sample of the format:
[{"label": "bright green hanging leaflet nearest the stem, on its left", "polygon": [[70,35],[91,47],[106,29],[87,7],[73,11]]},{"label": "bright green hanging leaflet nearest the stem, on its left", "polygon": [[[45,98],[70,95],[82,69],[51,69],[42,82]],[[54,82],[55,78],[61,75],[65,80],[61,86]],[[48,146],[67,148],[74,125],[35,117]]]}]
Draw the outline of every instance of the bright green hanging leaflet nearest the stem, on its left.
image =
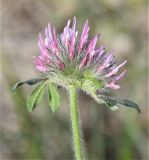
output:
[{"label": "bright green hanging leaflet nearest the stem, on its left", "polygon": [[53,83],[48,83],[48,102],[52,112],[56,112],[60,107],[60,95],[57,86]]}]

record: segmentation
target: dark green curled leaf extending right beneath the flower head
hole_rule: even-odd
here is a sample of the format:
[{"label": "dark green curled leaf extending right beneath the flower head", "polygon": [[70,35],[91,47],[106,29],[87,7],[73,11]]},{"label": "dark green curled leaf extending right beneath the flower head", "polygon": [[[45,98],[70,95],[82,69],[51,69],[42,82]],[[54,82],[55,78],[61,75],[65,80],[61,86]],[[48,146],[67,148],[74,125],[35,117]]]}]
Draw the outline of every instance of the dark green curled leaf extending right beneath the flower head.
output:
[{"label": "dark green curled leaf extending right beneath the flower head", "polygon": [[98,97],[103,99],[105,101],[105,104],[111,109],[114,106],[117,106],[117,107],[121,107],[121,106],[131,107],[131,108],[135,108],[138,111],[138,113],[141,113],[141,110],[140,110],[139,106],[131,100],[109,97],[107,95],[98,95]]}]

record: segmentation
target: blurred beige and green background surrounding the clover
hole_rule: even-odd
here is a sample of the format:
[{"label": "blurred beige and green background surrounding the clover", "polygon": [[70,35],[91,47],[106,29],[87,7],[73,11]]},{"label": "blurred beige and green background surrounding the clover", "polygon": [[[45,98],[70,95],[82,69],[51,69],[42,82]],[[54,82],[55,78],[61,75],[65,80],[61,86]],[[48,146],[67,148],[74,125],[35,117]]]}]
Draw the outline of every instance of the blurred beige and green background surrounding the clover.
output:
[{"label": "blurred beige and green background surrounding the clover", "polygon": [[71,160],[69,97],[59,89],[61,108],[52,114],[47,97],[28,113],[26,98],[32,88],[16,95],[12,85],[40,77],[33,56],[39,54],[38,33],[50,21],[57,32],[74,15],[78,30],[89,20],[90,35],[114,49],[120,62],[127,59],[127,76],[113,95],[129,98],[141,114],[129,108],[111,112],[80,93],[79,107],[89,160],[147,160],[148,146],[148,1],[147,0],[2,0],[1,1],[1,160]]}]

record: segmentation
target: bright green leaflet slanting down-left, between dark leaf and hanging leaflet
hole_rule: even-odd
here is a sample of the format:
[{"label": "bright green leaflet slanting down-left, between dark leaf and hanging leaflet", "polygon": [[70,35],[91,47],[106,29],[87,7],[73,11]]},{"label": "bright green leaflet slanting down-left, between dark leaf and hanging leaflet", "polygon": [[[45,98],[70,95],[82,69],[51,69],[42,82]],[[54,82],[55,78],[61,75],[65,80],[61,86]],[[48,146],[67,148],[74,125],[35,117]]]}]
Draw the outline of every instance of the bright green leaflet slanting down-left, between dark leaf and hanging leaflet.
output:
[{"label": "bright green leaflet slanting down-left, between dark leaf and hanging leaflet", "polygon": [[43,99],[46,84],[47,84],[47,81],[42,82],[29,95],[29,97],[27,99],[27,109],[28,109],[29,112],[32,112],[33,109]]}]

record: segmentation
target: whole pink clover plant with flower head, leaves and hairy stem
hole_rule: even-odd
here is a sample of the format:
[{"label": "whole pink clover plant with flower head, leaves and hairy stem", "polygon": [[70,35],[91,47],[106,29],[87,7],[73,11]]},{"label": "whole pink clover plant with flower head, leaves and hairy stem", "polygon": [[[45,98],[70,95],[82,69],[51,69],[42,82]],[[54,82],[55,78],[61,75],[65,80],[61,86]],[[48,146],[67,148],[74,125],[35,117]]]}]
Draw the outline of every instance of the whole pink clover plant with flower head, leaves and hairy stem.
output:
[{"label": "whole pink clover plant with flower head, leaves and hairy stem", "polygon": [[32,111],[44,96],[45,87],[48,86],[48,102],[53,112],[60,106],[60,96],[57,86],[65,87],[70,94],[70,114],[74,141],[75,157],[83,159],[82,144],[80,140],[79,113],[77,106],[77,91],[81,89],[93,97],[98,103],[104,103],[111,110],[120,106],[137,109],[139,106],[126,99],[109,96],[113,89],[119,89],[119,80],[126,74],[126,69],[120,71],[127,63],[117,64],[113,50],[107,51],[103,45],[96,47],[100,35],[89,38],[88,21],[83,30],[76,30],[76,17],[67,21],[61,34],[49,23],[45,28],[44,36],[40,33],[38,46],[40,55],[34,57],[34,63],[42,78],[21,81],[13,86],[13,91],[22,84],[34,85],[40,83],[30,94],[27,108]]}]

